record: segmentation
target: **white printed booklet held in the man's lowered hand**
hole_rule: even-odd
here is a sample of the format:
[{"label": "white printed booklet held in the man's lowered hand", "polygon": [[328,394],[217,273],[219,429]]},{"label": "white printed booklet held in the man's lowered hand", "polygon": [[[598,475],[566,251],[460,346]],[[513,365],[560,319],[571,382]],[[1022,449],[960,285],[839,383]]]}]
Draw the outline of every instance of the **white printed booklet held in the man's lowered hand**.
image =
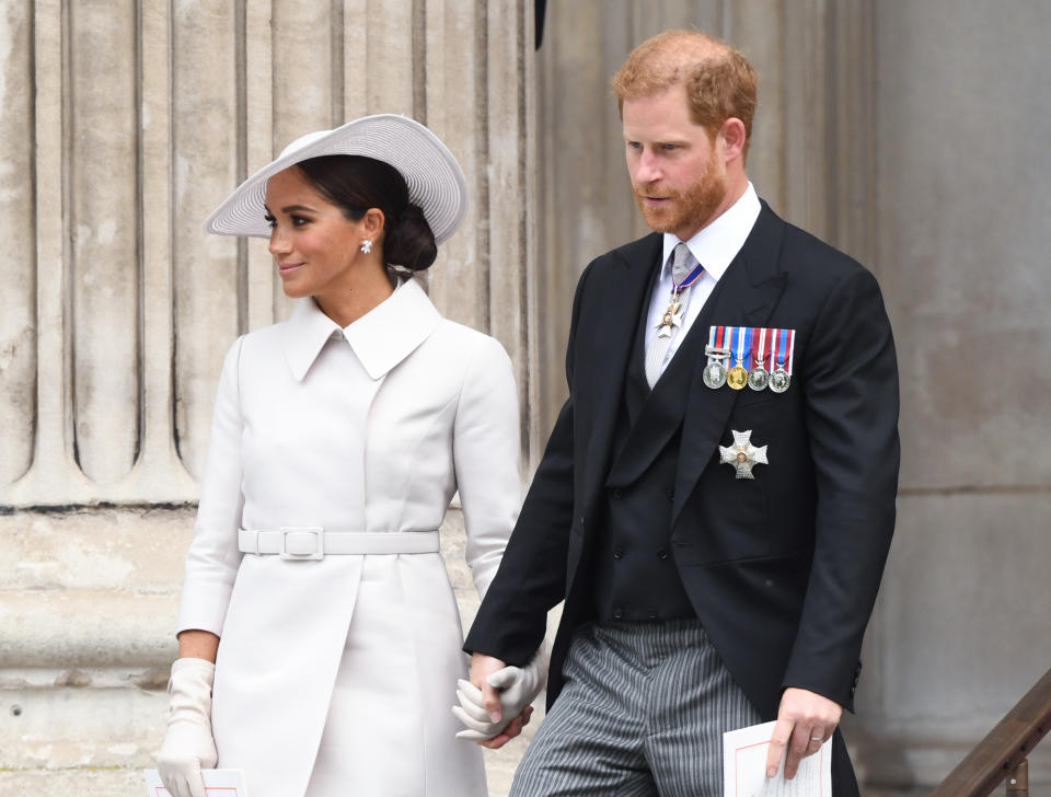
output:
[{"label": "white printed booklet held in the man's lowered hand", "polygon": [[723,797],[832,797],[832,740],[799,762],[785,779],[785,760],[776,777],[766,777],[766,753],[776,723],[752,725],[723,735]]}]

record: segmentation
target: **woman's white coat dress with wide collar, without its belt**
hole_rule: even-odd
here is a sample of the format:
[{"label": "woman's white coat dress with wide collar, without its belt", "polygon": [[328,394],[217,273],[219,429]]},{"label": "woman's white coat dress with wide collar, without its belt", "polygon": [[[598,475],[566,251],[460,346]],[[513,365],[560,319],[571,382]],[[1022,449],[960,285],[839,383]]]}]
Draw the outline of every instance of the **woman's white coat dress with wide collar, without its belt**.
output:
[{"label": "woman's white coat dress with wide collar, without its belt", "polygon": [[413,279],[345,330],[303,299],[230,349],[178,629],[220,636],[218,765],[252,797],[485,795],[481,750],[454,738],[466,657],[441,555],[290,561],[238,535],[432,533],[459,489],[484,594],[519,509],[519,429],[503,347]]}]

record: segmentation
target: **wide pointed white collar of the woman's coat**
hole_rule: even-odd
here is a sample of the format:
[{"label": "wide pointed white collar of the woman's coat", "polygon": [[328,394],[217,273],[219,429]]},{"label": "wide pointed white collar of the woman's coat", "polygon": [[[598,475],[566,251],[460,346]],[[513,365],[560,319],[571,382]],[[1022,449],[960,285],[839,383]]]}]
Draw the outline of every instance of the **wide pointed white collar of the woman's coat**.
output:
[{"label": "wide pointed white collar of the woman's coat", "polygon": [[441,314],[415,279],[400,281],[394,292],[346,328],[325,315],[312,298],[300,299],[285,323],[282,344],[288,367],[302,381],[325,344],[343,337],[371,379],[380,379],[426,340]]}]

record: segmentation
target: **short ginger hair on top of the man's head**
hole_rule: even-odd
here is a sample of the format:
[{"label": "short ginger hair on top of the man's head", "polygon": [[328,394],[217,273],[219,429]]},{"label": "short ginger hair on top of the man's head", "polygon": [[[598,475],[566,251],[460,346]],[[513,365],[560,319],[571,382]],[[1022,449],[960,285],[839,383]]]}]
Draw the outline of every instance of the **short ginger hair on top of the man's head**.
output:
[{"label": "short ginger hair on top of the man's head", "polygon": [[752,116],[758,90],[755,70],[726,42],[702,31],[665,31],[633,49],[611,84],[616,106],[682,84],[690,118],[715,136],[723,123],[744,123],[744,152],[752,140]]}]

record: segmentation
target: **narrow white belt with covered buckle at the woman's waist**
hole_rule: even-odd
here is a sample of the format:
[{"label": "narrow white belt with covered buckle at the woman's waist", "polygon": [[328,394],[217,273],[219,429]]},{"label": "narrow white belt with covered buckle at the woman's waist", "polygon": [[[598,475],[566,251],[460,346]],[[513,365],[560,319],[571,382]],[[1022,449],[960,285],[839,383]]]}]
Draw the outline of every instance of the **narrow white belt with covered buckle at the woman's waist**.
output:
[{"label": "narrow white belt with covered buckle at the woman's waist", "polygon": [[325,531],[320,525],[241,529],[238,547],[245,554],[276,554],[282,559],[321,559],[326,554],[432,554],[434,531]]}]

